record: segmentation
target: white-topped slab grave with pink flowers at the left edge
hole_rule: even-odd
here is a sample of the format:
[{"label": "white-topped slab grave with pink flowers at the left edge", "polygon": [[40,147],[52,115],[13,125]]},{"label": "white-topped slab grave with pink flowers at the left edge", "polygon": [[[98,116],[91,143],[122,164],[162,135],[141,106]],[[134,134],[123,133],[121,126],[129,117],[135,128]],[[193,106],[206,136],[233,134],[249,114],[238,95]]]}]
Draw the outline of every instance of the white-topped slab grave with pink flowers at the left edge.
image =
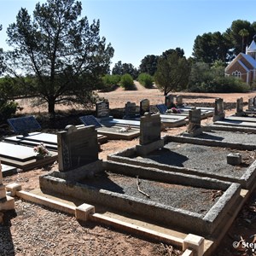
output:
[{"label": "white-topped slab grave with pink flowers at the left edge", "polygon": [[0,158],[3,164],[15,166],[23,171],[49,165],[57,160],[57,153],[49,151],[49,156],[38,158],[33,148],[12,143],[0,143]]}]

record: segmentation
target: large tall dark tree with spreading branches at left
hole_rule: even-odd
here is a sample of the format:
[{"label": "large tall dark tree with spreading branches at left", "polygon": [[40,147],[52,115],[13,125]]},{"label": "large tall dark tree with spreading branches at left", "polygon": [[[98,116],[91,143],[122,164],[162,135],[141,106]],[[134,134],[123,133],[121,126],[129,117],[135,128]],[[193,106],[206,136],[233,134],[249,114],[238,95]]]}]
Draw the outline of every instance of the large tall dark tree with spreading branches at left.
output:
[{"label": "large tall dark tree with spreading branches at left", "polygon": [[48,103],[51,115],[57,103],[95,102],[93,91],[109,72],[113,48],[100,37],[99,20],[79,20],[81,10],[81,2],[47,0],[36,4],[33,19],[21,8],[7,30],[14,49],[6,53],[9,75],[31,77],[26,86]]}]

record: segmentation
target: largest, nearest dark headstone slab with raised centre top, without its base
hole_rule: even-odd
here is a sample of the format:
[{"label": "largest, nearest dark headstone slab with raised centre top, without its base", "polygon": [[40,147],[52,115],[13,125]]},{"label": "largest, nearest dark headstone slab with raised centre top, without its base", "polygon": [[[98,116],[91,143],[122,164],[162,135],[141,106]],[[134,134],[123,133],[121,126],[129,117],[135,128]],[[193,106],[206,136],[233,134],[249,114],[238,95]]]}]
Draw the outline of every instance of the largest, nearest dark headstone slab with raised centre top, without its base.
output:
[{"label": "largest, nearest dark headstone slab with raised centre top, without its base", "polygon": [[98,160],[97,132],[93,125],[67,125],[57,133],[60,172],[68,172]]}]

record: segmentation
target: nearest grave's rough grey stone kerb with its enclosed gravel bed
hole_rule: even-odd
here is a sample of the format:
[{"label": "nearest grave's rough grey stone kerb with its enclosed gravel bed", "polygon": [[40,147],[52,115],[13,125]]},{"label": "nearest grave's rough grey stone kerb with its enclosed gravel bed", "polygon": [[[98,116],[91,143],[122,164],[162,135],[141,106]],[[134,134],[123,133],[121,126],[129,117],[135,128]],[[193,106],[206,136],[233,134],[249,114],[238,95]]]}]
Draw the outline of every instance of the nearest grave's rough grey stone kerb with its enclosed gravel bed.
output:
[{"label": "nearest grave's rough grey stone kerb with its enclosed gravel bed", "polygon": [[[224,224],[240,195],[238,183],[111,161],[104,165],[102,175],[77,182],[52,172],[39,178],[40,188],[44,193],[72,195],[200,236],[211,236]],[[137,176],[149,197],[137,191]],[[222,195],[212,200],[212,189],[221,190]]]}]

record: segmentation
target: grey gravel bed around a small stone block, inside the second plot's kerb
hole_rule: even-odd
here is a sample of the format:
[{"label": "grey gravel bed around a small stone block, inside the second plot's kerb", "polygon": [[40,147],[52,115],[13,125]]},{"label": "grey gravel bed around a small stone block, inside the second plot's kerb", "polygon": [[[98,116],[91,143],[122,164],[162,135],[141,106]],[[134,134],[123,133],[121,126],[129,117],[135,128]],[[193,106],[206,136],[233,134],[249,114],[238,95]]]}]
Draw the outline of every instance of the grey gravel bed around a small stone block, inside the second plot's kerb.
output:
[{"label": "grey gravel bed around a small stone block, inside the second plot's kerb", "polygon": [[[227,165],[227,155],[240,153],[240,166]],[[152,162],[170,166],[179,166],[200,170],[201,172],[224,174],[230,177],[241,177],[247,167],[254,161],[255,152],[235,150],[230,148],[208,147],[189,143],[167,143],[161,150],[148,154],[147,157],[137,157],[139,161]]]}]

